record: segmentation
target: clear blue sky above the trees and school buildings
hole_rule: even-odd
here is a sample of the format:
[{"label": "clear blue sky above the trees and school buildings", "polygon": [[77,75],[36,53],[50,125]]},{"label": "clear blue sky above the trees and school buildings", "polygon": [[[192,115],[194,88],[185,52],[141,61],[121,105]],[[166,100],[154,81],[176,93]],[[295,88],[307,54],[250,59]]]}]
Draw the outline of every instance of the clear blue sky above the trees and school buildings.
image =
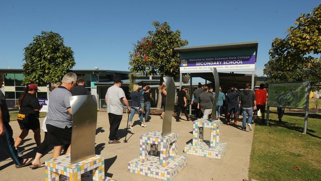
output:
[{"label": "clear blue sky above the trees and school buildings", "polygon": [[1,0],[0,68],[21,68],[23,48],[41,31],[59,33],[75,53],[74,69],[128,70],[128,52],[153,30],[179,29],[188,46],[258,41],[263,75],[272,40],[283,38],[318,0]]}]

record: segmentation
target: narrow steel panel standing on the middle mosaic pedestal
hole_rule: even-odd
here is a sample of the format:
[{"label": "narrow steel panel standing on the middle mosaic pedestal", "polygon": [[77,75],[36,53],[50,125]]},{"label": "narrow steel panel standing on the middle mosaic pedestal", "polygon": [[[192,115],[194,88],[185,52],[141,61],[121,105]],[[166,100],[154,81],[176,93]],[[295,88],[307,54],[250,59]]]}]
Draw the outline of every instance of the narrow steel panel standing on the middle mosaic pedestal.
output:
[{"label": "narrow steel panel standing on the middle mosaic pedestal", "polygon": [[161,136],[166,136],[169,135],[172,131],[172,117],[175,101],[175,83],[172,77],[164,77],[163,79],[165,82],[167,95]]}]

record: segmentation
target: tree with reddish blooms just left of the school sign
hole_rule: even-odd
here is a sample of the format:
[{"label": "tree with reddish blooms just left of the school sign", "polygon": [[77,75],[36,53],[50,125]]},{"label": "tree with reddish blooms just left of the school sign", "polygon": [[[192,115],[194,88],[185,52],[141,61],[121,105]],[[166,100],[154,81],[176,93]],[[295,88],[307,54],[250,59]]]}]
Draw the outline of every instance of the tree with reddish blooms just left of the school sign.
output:
[{"label": "tree with reddish blooms just left of the school sign", "polygon": [[[137,41],[133,51],[129,52],[130,71],[145,76],[161,75],[176,78],[179,75],[179,55],[174,51],[175,47],[188,44],[187,40],[181,39],[181,32],[170,29],[167,22],[153,21],[154,31],[149,31],[148,36]],[[161,96],[159,92],[158,105],[161,107]]]}]

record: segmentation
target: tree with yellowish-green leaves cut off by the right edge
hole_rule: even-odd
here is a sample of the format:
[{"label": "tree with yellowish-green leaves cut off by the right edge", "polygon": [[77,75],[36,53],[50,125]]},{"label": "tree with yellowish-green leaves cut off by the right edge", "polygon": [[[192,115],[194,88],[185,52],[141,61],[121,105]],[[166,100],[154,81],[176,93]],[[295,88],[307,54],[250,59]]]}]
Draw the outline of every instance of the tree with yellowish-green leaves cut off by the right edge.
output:
[{"label": "tree with yellowish-green leaves cut off by the right edge", "polygon": [[321,5],[308,14],[301,14],[295,24],[286,29],[284,39],[273,40],[270,60],[263,72],[267,82],[310,80],[312,90],[318,90],[321,82]]}]

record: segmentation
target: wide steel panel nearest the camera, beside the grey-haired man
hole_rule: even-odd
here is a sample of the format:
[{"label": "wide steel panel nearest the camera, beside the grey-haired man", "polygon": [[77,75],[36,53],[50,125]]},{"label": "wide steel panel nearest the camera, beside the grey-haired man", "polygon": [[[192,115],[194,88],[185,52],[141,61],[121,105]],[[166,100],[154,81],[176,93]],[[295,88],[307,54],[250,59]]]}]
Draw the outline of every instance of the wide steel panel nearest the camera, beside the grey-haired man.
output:
[{"label": "wide steel panel nearest the camera, beside the grey-haired man", "polygon": [[94,95],[71,96],[69,101],[73,111],[71,163],[76,163],[95,155],[97,101]]}]

